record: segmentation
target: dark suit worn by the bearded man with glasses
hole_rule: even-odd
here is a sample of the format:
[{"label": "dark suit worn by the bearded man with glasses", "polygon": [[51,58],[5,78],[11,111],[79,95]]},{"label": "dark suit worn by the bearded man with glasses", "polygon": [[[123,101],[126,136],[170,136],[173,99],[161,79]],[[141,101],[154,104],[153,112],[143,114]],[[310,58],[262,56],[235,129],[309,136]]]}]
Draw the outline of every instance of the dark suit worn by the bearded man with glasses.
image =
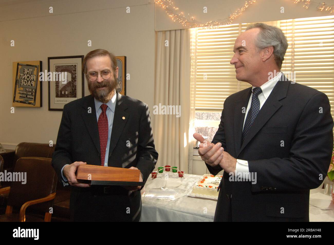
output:
[{"label": "dark suit worn by the bearded man with glasses", "polygon": [[[137,167],[146,181],[157,159],[148,106],[117,92],[108,166]],[[101,165],[99,129],[92,95],[72,101],[63,109],[52,155],[52,166],[59,179],[61,168],[75,161]],[[140,191],[129,195],[123,187],[111,188],[110,194],[104,194],[101,187],[71,186],[71,220],[138,221],[141,214]]]}]

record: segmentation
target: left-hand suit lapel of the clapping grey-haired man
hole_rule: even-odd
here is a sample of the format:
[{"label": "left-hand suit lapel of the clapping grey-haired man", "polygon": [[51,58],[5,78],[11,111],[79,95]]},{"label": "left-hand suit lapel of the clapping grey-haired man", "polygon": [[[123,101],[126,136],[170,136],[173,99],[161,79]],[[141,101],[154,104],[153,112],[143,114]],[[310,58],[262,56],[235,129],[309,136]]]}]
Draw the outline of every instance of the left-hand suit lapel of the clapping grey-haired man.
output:
[{"label": "left-hand suit lapel of the clapping grey-haired man", "polygon": [[249,97],[252,94],[252,87],[244,90],[244,93],[240,94],[239,100],[234,105],[234,145],[235,154],[237,154],[241,148],[241,135],[242,126],[246,113],[242,113],[242,107],[247,108]]}]

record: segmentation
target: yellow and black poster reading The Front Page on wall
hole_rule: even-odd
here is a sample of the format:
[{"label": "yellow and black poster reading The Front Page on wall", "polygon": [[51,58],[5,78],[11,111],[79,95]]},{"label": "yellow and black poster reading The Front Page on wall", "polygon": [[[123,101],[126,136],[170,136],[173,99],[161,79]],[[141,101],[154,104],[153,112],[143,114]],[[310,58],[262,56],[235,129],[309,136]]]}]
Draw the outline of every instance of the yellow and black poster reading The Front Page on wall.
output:
[{"label": "yellow and black poster reading The Front Page on wall", "polygon": [[42,107],[42,62],[13,62],[13,106]]}]

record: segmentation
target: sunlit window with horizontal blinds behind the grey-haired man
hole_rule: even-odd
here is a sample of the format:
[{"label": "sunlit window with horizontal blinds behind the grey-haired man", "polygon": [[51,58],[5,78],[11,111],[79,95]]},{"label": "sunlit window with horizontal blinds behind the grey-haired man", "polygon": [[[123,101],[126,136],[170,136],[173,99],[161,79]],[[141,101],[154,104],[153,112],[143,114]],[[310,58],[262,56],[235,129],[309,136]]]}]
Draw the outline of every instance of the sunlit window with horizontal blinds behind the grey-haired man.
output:
[{"label": "sunlit window with horizontal blinds behind the grey-haired man", "polygon": [[[282,72],[290,80],[325,93],[334,116],[334,16],[266,22],[280,27],[288,39]],[[225,99],[250,84],[237,81],[230,64],[237,36],[246,23],[191,30],[195,131],[212,140]]]}]

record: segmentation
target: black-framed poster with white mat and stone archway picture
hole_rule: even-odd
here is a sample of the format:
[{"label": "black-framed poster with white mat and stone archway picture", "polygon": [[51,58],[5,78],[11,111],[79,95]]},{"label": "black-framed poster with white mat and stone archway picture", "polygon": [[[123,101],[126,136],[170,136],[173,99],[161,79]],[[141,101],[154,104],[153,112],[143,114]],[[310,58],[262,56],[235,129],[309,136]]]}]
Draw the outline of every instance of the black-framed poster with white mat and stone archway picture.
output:
[{"label": "black-framed poster with white mat and stone archway picture", "polygon": [[47,58],[49,111],[62,111],[65,104],[85,95],[82,61],[83,55]]}]

